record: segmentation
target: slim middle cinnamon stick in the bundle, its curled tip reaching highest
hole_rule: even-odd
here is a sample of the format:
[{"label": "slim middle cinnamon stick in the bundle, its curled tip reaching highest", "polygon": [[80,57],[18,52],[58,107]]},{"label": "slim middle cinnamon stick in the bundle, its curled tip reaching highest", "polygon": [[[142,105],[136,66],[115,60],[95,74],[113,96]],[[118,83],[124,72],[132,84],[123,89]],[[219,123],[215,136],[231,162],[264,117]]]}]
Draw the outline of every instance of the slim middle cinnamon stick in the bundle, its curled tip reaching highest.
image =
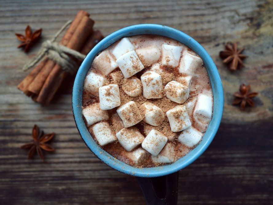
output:
[{"label": "slim middle cinnamon stick in the bundle, its curled tip reaching highest", "polygon": [[[68,41],[72,37],[73,33],[75,32],[77,26],[79,25],[80,21],[82,20],[82,18],[84,16],[89,16],[89,14],[84,10],[80,10],[77,13],[73,22],[71,23],[68,30],[65,32],[64,36],[62,37],[60,44],[62,44],[62,45],[68,44]],[[34,93],[36,95],[39,94],[46,78],[48,77],[49,73],[53,69],[54,65],[55,65],[55,63],[51,60],[48,60],[46,62],[46,64],[43,66],[43,69],[41,69],[41,71],[39,73],[37,73],[37,75],[35,76],[33,81],[29,84],[29,86],[28,86],[29,93]],[[38,66],[41,66],[41,65],[38,64],[37,67]],[[36,68],[34,68],[34,69],[36,69]]]}]

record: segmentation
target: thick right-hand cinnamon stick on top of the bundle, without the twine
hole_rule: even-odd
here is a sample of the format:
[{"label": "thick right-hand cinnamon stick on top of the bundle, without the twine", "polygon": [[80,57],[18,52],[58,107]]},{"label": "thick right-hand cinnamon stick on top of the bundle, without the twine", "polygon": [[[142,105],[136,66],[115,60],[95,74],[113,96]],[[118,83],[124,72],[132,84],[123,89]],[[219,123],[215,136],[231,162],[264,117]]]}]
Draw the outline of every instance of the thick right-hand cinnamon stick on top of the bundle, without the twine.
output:
[{"label": "thick right-hand cinnamon stick on top of the bundle, without the twine", "polygon": [[[93,31],[93,25],[94,21],[84,16],[66,46],[70,49],[80,51],[87,37]],[[36,101],[41,104],[49,104],[66,76],[67,73],[62,70],[60,65],[56,64],[47,77]]]}]

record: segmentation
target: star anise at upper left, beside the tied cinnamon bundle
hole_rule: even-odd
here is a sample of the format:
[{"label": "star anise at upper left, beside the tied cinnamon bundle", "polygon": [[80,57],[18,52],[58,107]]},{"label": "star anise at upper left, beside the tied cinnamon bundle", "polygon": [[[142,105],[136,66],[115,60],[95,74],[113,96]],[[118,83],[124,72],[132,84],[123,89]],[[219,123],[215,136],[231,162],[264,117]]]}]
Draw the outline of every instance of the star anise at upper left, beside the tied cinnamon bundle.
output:
[{"label": "star anise at upper left, beside the tied cinnamon bundle", "polygon": [[30,45],[41,35],[42,29],[34,31],[32,33],[30,26],[28,25],[25,28],[25,36],[22,34],[15,34],[19,41],[22,41],[18,48],[25,46],[24,52],[27,52]]}]

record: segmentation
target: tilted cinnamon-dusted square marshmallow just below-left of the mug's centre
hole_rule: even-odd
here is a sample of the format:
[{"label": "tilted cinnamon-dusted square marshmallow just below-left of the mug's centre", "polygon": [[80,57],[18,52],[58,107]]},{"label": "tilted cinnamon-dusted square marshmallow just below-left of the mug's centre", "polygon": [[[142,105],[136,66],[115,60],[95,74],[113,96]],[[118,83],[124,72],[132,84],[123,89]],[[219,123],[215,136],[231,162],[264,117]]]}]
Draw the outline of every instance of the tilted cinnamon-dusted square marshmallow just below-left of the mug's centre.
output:
[{"label": "tilted cinnamon-dusted square marshmallow just below-left of the mug's centre", "polygon": [[120,106],[117,109],[117,113],[123,121],[125,128],[138,124],[143,119],[138,110],[138,106],[134,101],[129,101]]}]

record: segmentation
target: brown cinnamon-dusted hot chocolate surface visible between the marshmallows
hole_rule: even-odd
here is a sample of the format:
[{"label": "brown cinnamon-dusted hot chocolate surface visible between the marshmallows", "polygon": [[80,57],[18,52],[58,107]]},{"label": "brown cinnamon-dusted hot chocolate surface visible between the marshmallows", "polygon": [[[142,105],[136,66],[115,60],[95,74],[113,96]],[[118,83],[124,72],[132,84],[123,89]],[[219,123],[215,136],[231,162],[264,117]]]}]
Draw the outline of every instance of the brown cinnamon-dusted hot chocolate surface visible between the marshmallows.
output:
[{"label": "brown cinnamon-dusted hot chocolate surface visible between the marshmallows", "polygon": [[[172,153],[173,161],[176,161],[176,160],[180,159],[181,157],[185,156],[187,153],[189,153],[198,144],[193,147],[189,147],[189,146],[186,146],[185,144],[182,144],[181,142],[179,142],[177,138],[181,132],[172,132],[171,131],[170,123],[169,123],[168,117],[166,116],[166,112],[168,110],[174,108],[177,105],[193,104],[192,110],[188,111],[189,119],[191,121],[192,127],[195,128],[196,130],[198,130],[202,135],[204,135],[204,133],[209,125],[210,120],[208,122],[200,124],[199,122],[196,122],[196,118],[194,117],[193,112],[194,112],[195,106],[197,104],[197,97],[198,97],[198,95],[201,95],[201,94],[208,96],[211,99],[212,106],[213,106],[213,93],[212,93],[212,88],[211,88],[211,84],[210,84],[207,70],[206,70],[205,66],[203,64],[201,64],[194,71],[194,73],[190,73],[190,74],[189,73],[180,73],[179,66],[181,66],[180,65],[181,61],[179,61],[179,65],[177,67],[162,65],[162,44],[181,46],[182,47],[181,58],[183,58],[183,54],[185,53],[185,51],[188,51],[188,53],[191,53],[191,54],[198,57],[198,55],[196,53],[194,53],[189,47],[187,47],[186,45],[184,45],[178,41],[170,39],[168,37],[147,34],[147,35],[136,35],[136,36],[128,37],[128,39],[131,41],[132,45],[135,48],[136,53],[138,53],[138,57],[139,57],[140,61],[144,65],[144,69],[137,72],[135,75],[133,75],[133,77],[140,79],[140,76],[143,73],[145,73],[146,71],[149,71],[151,68],[153,68],[153,66],[155,64],[157,64],[158,68],[160,69],[160,71],[157,71],[157,73],[160,74],[160,76],[162,78],[162,85],[163,85],[163,88],[162,88],[163,97],[162,98],[146,99],[145,97],[143,97],[142,93],[136,97],[131,97],[131,96],[127,95],[124,92],[124,89],[130,91],[130,90],[134,89],[134,87],[132,87],[131,84],[128,83],[128,80],[124,79],[123,73],[120,71],[119,67],[114,69],[111,73],[105,75],[104,70],[97,69],[98,61],[96,61],[95,64],[93,62],[90,70],[88,71],[88,74],[90,72],[93,72],[93,73],[99,74],[100,76],[105,77],[107,79],[107,81],[104,82],[103,85],[109,85],[109,84],[118,85],[119,86],[120,102],[121,102],[120,106],[122,106],[123,104],[126,104],[129,101],[134,101],[137,104],[142,116],[143,116],[143,110],[141,109],[141,105],[143,103],[150,102],[150,103],[158,106],[163,111],[164,116],[165,116],[163,122],[161,122],[162,124],[160,124],[158,126],[152,126],[142,120],[139,123],[133,125],[132,127],[137,128],[138,131],[144,137],[147,136],[147,134],[150,132],[151,129],[155,129],[155,130],[158,130],[159,132],[161,132],[164,136],[166,136],[168,138],[167,144],[169,144],[168,146],[173,148],[173,150],[174,150],[174,152]],[[114,61],[116,60],[116,58],[112,54],[112,52],[118,43],[119,43],[119,41],[115,42],[114,44],[109,46],[107,49],[105,49],[106,51],[109,51],[109,53],[110,53],[111,57],[114,59]],[[143,50],[143,49],[145,50],[146,48],[149,49],[149,48],[154,48],[154,47],[156,47],[159,50],[158,56],[160,56],[160,57],[159,57],[158,61],[152,62],[152,64],[150,64],[149,62],[145,61],[145,56],[142,56],[141,53],[138,52],[138,50]],[[96,59],[96,57],[95,57],[95,59]],[[106,61],[111,61],[111,60],[103,59],[101,61],[101,63],[104,64]],[[166,62],[168,62],[168,59],[166,60]],[[154,69],[152,69],[152,70],[154,71]],[[113,79],[113,76],[115,79]],[[186,85],[187,82],[185,81],[185,78],[183,78],[183,77],[187,77],[187,76],[191,77],[190,84],[188,85],[189,90],[190,90],[189,98],[182,104],[176,103],[176,102],[168,99],[166,97],[165,90],[164,90],[165,85],[167,83],[169,83],[170,81],[177,81],[183,85]],[[88,80],[86,79],[85,84],[87,84],[87,81]],[[98,92],[94,91],[94,90],[90,90],[90,86],[89,87],[84,86],[83,108],[86,108],[87,106],[94,104],[94,103],[99,103]],[[102,120],[103,122],[107,122],[109,124],[114,135],[115,135],[115,133],[119,132],[123,128],[123,124],[120,123],[121,119],[119,118],[119,115],[116,112],[117,108],[118,107],[107,110],[108,115],[109,115],[109,119]],[[213,107],[211,109],[213,111]],[[96,124],[96,123],[94,123],[94,124]],[[96,137],[94,137],[94,134],[92,132],[92,126],[94,126],[94,124],[88,126],[88,124],[86,123],[91,136],[96,140]],[[116,140],[115,142],[112,142],[112,143],[109,143],[109,144],[106,144],[106,145],[100,146],[100,147],[102,147],[106,152],[108,152],[109,154],[111,154],[112,156],[117,158],[118,160],[121,160],[126,164],[130,164],[131,166],[145,168],[145,167],[156,167],[156,166],[166,164],[166,163],[161,164],[161,163],[154,162],[152,160],[152,155],[148,152],[146,153],[147,156],[144,159],[142,159],[140,162],[138,162],[138,164],[136,164],[134,162],[134,160],[132,160],[132,157],[130,157],[130,153],[138,148],[141,148],[141,146],[142,145],[139,144],[132,151],[127,152],[123,148],[123,146],[119,143],[119,141]]]}]

